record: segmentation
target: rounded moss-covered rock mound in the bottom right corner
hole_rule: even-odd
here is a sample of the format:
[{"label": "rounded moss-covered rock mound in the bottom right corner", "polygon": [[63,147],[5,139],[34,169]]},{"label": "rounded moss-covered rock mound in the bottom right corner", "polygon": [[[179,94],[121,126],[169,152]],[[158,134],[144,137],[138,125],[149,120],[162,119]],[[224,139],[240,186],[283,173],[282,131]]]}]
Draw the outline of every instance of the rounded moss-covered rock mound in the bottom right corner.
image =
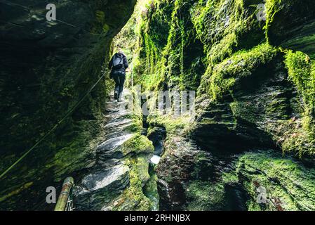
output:
[{"label": "rounded moss-covered rock mound in the bottom right corner", "polygon": [[[314,169],[305,169],[280,154],[246,153],[237,162],[236,173],[251,199],[250,210],[314,209]],[[257,188],[267,189],[267,204],[257,203]]]}]

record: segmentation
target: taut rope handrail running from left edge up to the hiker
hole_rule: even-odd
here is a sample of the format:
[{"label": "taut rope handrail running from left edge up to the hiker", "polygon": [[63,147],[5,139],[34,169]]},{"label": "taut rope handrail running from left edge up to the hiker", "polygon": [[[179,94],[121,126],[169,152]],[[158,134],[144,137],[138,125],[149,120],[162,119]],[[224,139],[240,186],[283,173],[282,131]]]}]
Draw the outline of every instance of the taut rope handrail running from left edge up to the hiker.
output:
[{"label": "taut rope handrail running from left edge up to the hiker", "polygon": [[[101,70],[101,72],[103,72],[104,70]],[[32,146],[32,148],[29,148],[29,150],[27,150],[18,160],[16,160],[13,165],[11,165],[10,167],[8,167],[8,169],[6,169],[5,172],[3,172],[0,175],[0,179],[2,179],[2,177],[4,177],[11,169],[13,169],[13,167],[15,167],[15,165],[18,165],[18,163],[20,161],[22,161],[27,155],[29,155],[29,153],[32,152],[32,150],[34,150],[34,148],[36,148],[39,143],[41,143],[41,141],[43,141],[44,139],[46,139],[46,137],[51,134],[71,113],[73,113],[73,111],[76,109],[76,107],[78,107],[84,100],[84,98],[86,98],[86,96],[88,96],[88,94],[91,93],[91,91],[93,91],[93,89],[95,88],[96,85],[98,85],[98,83],[102,80],[103,77],[105,77],[105,75],[107,74],[107,72],[104,72],[103,75],[100,77],[100,79],[98,79],[98,81],[91,87],[91,89],[88,90],[88,92],[86,92],[86,94],[81,98],[80,101],[78,101],[66,114],[65,116],[62,117],[61,120],[58,121],[57,124],[55,124],[55,126],[53,126],[43,137],[41,137],[41,139],[39,139],[39,141],[37,141],[34,146]]]}]

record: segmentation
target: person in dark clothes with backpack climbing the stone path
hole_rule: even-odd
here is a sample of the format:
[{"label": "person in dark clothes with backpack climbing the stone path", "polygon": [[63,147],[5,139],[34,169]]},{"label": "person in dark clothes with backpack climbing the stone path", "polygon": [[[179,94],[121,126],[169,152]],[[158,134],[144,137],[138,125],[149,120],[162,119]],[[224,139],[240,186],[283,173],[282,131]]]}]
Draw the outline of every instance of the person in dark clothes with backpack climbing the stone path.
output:
[{"label": "person in dark clothes with backpack climbing the stone path", "polygon": [[109,70],[112,69],[109,77],[114,79],[115,82],[114,98],[120,102],[123,94],[123,84],[126,79],[126,69],[128,68],[128,60],[121,49],[114,54],[108,68]]}]

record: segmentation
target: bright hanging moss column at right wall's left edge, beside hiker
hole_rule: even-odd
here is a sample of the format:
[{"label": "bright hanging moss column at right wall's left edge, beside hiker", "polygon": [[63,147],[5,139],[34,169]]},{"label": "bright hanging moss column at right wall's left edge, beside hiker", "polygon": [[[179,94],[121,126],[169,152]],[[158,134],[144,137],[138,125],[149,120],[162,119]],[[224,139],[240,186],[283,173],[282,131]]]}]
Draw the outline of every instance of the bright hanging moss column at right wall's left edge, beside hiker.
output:
[{"label": "bright hanging moss column at right wall's left edge, beside hiker", "polygon": [[[161,1],[139,1],[131,21],[134,23],[134,40],[131,52],[133,66],[133,84],[142,84],[145,89],[154,89],[163,79],[159,76],[161,70],[161,49],[163,49],[165,33],[168,32],[168,23],[161,18],[169,3],[160,7]],[[164,7],[165,6],[165,7]],[[126,28],[130,30],[130,26]],[[158,32],[156,32],[158,31]],[[130,33],[125,32],[125,33]],[[119,38],[121,39],[121,38]],[[122,38],[124,39],[124,37]],[[127,41],[128,42],[128,41]]]}]

